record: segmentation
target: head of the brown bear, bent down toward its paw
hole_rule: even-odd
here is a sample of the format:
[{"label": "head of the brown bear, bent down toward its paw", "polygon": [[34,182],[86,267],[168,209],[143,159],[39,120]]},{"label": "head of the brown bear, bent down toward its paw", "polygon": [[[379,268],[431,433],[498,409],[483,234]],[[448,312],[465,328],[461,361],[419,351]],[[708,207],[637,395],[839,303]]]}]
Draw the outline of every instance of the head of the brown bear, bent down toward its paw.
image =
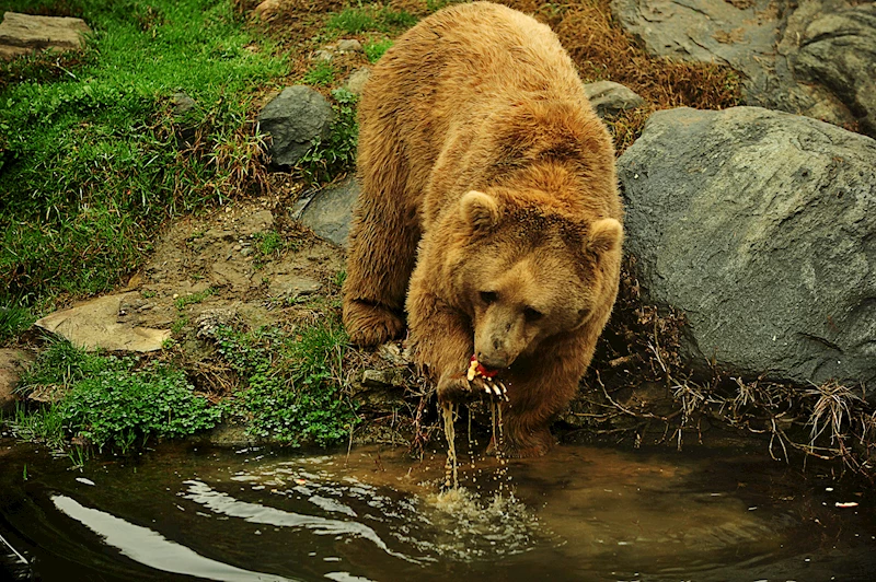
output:
[{"label": "head of the brown bear, bent down toward its paw", "polygon": [[508,368],[545,339],[595,318],[601,330],[616,294],[618,220],[570,216],[538,197],[476,190],[462,197],[460,213],[451,281],[472,318],[484,366]]}]

